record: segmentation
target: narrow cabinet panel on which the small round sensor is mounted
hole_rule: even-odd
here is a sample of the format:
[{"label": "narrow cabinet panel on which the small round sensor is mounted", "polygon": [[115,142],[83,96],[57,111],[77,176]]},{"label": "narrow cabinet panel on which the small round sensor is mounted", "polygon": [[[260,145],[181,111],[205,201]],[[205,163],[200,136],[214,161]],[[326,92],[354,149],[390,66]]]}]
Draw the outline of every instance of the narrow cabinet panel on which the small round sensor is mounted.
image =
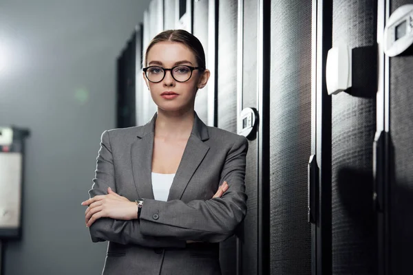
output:
[{"label": "narrow cabinet panel on which the small round sensor is mounted", "polygon": [[[238,1],[237,46],[237,130],[240,131],[240,112],[245,108],[257,108],[257,56],[258,56],[258,5],[259,1]],[[240,45],[241,44],[241,45]],[[248,212],[238,241],[239,274],[258,274],[258,182],[257,138],[249,141],[246,155],[245,184],[248,195]]]}]

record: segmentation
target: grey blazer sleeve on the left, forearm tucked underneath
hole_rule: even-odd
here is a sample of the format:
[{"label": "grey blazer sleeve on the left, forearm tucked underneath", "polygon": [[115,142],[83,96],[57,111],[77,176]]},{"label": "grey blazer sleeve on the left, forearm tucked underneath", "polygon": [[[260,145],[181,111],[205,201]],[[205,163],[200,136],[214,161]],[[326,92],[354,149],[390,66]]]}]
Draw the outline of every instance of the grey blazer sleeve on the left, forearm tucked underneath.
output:
[{"label": "grey blazer sleeve on the left, forearm tucked underneath", "polygon": [[[100,142],[100,150],[97,157],[96,172],[89,196],[107,195],[110,187],[116,192],[115,168],[112,158],[112,149],[109,142],[109,133],[103,132]],[[97,219],[89,227],[90,236],[94,243],[98,241],[113,241],[121,244],[136,244],[149,248],[184,248],[185,241],[176,238],[144,236],[140,230],[140,221],[117,220],[112,218]]]}]

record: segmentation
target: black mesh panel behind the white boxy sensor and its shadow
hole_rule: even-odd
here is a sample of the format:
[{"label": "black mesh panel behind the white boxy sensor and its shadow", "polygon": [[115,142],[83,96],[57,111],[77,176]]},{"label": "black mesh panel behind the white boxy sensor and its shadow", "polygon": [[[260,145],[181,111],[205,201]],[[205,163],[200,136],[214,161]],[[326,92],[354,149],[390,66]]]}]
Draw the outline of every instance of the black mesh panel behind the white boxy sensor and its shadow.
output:
[{"label": "black mesh panel behind the white boxy sensor and its shadow", "polygon": [[[347,43],[353,52],[374,47],[376,5],[372,0],[333,1],[332,46]],[[370,75],[375,74],[372,66]],[[352,79],[360,78],[353,70]],[[375,95],[351,96],[352,92],[332,96],[332,274],[376,274],[377,225],[372,209],[376,100]]]}]

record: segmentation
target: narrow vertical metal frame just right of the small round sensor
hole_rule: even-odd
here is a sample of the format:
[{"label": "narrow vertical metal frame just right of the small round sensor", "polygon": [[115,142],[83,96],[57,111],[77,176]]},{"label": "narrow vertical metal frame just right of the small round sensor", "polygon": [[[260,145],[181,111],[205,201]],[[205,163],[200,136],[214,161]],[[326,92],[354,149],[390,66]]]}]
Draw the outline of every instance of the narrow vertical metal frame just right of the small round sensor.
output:
[{"label": "narrow vertical metal frame just right of the small round sensor", "polygon": [[271,0],[258,0],[257,30],[257,184],[258,184],[258,270],[270,272],[270,61]]}]

